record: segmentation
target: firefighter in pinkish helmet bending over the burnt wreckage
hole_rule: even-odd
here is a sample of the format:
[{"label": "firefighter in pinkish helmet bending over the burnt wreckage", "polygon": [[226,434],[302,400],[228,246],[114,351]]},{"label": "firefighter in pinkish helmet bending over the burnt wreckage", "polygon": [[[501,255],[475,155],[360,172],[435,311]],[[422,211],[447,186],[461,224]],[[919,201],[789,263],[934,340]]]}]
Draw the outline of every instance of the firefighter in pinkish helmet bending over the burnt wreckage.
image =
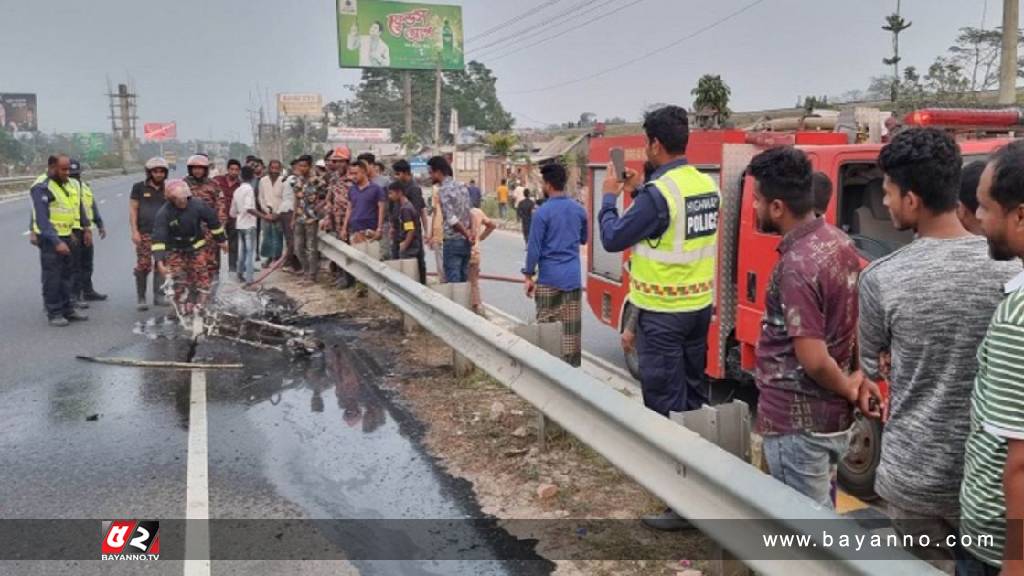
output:
[{"label": "firefighter in pinkish helmet bending over the burnt wreckage", "polygon": [[212,277],[208,238],[227,251],[227,235],[216,212],[184,180],[165,187],[167,203],[157,212],[153,230],[153,257],[160,274],[174,283],[174,302],[180,314],[202,307],[210,293]]}]

